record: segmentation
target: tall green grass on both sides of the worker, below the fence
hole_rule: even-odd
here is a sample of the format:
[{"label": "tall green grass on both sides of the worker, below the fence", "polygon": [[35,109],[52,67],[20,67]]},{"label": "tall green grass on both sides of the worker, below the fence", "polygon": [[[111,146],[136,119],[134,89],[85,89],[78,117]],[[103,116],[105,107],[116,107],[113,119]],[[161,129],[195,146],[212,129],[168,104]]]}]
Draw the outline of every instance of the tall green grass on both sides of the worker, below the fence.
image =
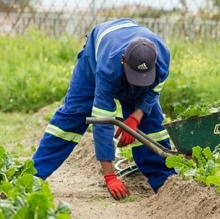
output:
[{"label": "tall green grass on both sides of the worker, below the fence", "polygon": [[[212,40],[170,41],[170,75],[161,93],[164,112],[220,99],[220,44]],[[81,43],[48,37],[35,29],[0,37],[0,111],[35,112],[66,93]]]}]

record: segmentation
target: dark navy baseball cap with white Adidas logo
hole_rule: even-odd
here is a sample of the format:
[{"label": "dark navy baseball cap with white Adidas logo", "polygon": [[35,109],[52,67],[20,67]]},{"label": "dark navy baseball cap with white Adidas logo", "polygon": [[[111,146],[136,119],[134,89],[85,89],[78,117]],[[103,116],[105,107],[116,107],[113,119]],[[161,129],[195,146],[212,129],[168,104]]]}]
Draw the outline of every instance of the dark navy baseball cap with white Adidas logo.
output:
[{"label": "dark navy baseball cap with white Adidas logo", "polygon": [[128,44],[124,54],[127,80],[136,86],[150,86],[156,78],[157,53],[154,44],[137,38]]}]

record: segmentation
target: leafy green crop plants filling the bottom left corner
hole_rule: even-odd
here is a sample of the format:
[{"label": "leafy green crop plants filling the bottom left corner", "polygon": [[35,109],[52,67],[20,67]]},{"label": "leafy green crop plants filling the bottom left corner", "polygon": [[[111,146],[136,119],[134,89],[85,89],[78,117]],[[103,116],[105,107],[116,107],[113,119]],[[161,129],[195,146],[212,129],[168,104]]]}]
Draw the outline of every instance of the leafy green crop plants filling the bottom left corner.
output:
[{"label": "leafy green crop plants filling the bottom left corner", "polygon": [[47,182],[35,177],[33,161],[20,162],[0,147],[0,218],[70,219],[70,209],[57,208]]}]

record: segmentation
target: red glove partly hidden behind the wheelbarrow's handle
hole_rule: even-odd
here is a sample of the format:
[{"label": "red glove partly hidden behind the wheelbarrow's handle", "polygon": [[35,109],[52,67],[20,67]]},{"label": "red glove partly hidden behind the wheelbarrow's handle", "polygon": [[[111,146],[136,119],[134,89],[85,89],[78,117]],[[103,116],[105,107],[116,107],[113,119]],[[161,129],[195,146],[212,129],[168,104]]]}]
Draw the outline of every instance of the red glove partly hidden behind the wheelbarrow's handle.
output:
[{"label": "red glove partly hidden behind the wheelbarrow's handle", "polygon": [[[140,121],[134,117],[133,115],[130,115],[125,121],[124,124],[132,128],[134,131],[137,130],[138,125],[140,124]],[[126,146],[128,144],[131,144],[134,142],[134,137],[128,134],[126,131],[123,131],[121,128],[118,128],[115,138],[117,138],[122,133],[121,139],[118,143],[118,146]]]}]

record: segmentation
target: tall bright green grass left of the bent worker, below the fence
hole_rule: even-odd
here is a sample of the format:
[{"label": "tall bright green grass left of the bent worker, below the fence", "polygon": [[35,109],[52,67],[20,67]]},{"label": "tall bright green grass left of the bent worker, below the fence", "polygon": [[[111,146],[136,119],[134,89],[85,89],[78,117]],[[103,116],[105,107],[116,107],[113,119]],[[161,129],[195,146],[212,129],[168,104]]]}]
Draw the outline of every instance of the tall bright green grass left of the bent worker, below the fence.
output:
[{"label": "tall bright green grass left of the bent worker, below the fence", "polygon": [[64,96],[80,43],[35,29],[0,37],[0,111],[33,112]]}]

